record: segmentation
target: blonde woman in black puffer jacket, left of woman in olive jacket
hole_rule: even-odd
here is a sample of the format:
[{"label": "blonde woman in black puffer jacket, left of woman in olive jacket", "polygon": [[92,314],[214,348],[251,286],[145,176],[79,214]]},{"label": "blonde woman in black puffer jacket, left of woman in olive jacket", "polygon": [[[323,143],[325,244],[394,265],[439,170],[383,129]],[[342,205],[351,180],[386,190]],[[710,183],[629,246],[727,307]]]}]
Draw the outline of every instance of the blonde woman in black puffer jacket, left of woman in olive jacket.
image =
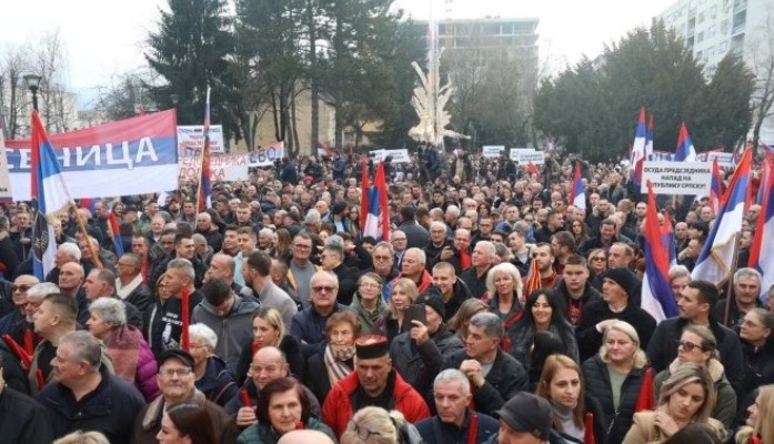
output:
[{"label": "blonde woman in black puffer jacket, left of woman in olive jacket", "polygon": [[583,363],[586,391],[609,422],[610,443],[621,442],[632,426],[646,364],[636,330],[624,321],[607,325],[600,352]]}]

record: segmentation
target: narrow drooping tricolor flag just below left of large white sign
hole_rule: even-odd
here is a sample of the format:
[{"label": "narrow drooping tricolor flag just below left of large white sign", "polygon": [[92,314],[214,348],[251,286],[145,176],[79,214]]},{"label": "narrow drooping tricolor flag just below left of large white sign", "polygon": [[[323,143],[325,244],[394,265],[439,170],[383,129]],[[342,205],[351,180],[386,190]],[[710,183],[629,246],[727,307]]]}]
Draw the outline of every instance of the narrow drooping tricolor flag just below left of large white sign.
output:
[{"label": "narrow drooping tricolor flag just below left of large white sign", "polygon": [[664,245],[662,229],[659,224],[653,184],[649,181],[644,235],[645,273],[642,276],[641,306],[656,322],[677,315],[677,304],[670,286],[670,252],[669,246]]}]

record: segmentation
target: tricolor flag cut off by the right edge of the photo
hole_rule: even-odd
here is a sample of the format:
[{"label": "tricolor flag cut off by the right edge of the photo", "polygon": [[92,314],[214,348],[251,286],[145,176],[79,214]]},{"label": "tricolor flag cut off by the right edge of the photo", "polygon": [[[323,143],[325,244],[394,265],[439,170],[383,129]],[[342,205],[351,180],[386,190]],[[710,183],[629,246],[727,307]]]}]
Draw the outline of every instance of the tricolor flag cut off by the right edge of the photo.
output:
[{"label": "tricolor flag cut off by the right edge of the photo", "polygon": [[[766,168],[772,169],[772,160],[766,159]],[[750,245],[748,266],[756,269],[763,275],[761,296],[765,297],[768,289],[774,285],[774,178],[770,173],[765,182],[761,182],[763,199],[761,213],[755,225],[755,236]]]}]

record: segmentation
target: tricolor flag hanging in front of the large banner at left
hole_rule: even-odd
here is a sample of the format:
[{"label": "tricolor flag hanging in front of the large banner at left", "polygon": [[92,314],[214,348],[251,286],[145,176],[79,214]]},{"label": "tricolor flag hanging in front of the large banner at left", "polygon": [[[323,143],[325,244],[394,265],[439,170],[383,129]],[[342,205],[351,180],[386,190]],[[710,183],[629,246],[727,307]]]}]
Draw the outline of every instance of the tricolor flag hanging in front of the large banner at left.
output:
[{"label": "tricolor flag hanging in front of the large banner at left", "polygon": [[67,212],[74,203],[38,111],[32,111],[31,142],[30,189],[38,206],[32,228],[32,270],[42,282],[54,268],[53,259],[57,254],[57,238],[49,221]]}]

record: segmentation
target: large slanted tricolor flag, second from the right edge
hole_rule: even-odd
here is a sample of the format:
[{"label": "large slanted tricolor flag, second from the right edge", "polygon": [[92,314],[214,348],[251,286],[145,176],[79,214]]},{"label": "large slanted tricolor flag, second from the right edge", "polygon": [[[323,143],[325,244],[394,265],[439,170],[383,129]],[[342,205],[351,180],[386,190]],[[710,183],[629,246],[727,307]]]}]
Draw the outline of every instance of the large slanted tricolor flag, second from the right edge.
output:
[{"label": "large slanted tricolor flag, second from the right edge", "polygon": [[746,150],[742,154],[742,161],[734,172],[721,203],[721,210],[698,254],[696,266],[691,273],[694,280],[702,279],[717,285],[731,278],[733,273],[735,240],[736,233],[742,230],[744,201],[750,186],[752,153],[753,150]]}]

